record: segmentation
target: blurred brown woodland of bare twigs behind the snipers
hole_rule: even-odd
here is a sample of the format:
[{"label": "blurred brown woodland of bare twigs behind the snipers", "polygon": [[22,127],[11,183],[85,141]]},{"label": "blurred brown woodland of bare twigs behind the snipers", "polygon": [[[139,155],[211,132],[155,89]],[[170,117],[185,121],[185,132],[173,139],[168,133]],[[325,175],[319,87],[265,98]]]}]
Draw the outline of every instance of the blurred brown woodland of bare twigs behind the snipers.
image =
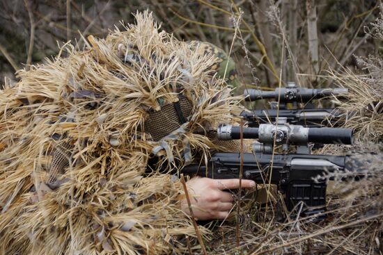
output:
[{"label": "blurred brown woodland of bare twigs behind the snipers", "polygon": [[[382,41],[368,35],[370,22],[379,17],[378,3],[2,0],[0,75],[15,79],[17,69],[44,62],[44,58],[58,54],[65,42],[70,40],[82,49],[81,35],[102,38],[114,26],[121,28],[120,21],[134,22],[132,13],[149,9],[162,28],[176,38],[212,42],[230,51],[243,83],[274,87],[282,69],[282,83],[297,81],[304,86],[325,87],[329,83],[322,84],[321,76],[311,75],[326,75],[330,68],[335,71],[342,66],[353,68],[357,65],[354,56],[377,55],[382,51]],[[239,14],[240,19],[235,21],[233,17]],[[236,28],[240,29],[235,32]]]}]

